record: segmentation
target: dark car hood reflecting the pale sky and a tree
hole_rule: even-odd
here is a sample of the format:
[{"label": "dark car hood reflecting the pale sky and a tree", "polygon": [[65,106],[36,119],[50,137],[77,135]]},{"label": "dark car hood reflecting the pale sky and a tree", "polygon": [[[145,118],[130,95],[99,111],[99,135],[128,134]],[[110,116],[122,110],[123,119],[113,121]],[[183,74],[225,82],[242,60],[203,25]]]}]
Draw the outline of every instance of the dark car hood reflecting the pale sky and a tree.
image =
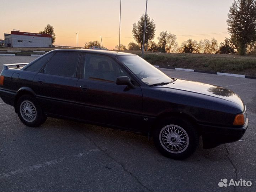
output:
[{"label": "dark car hood reflecting the pale sky and a tree", "polygon": [[176,81],[167,85],[163,85],[161,87],[217,97],[227,101],[234,102],[240,106],[244,106],[244,103],[242,102],[241,98],[236,93],[219,86],[177,79]]}]

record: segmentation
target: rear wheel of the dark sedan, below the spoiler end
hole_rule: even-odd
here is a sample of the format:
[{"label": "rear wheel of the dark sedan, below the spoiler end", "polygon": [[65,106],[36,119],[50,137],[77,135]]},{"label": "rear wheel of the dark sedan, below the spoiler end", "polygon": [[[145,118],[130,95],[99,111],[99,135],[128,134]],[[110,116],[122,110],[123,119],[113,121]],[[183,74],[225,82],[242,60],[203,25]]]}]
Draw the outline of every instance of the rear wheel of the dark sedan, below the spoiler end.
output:
[{"label": "rear wheel of the dark sedan, below the spoiler end", "polygon": [[38,127],[47,118],[36,98],[31,95],[21,96],[17,102],[16,110],[21,122],[29,127]]}]

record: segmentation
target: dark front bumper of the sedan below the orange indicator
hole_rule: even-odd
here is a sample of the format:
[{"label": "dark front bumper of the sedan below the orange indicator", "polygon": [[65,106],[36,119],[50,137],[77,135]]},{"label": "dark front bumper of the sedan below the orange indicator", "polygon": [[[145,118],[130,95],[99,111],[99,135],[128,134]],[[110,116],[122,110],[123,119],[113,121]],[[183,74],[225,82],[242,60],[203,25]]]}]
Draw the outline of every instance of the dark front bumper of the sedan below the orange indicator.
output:
[{"label": "dark front bumper of the sedan below the orange indicator", "polygon": [[238,127],[202,126],[203,148],[214,148],[220,144],[236,142],[242,138],[248,127],[248,118],[245,124]]}]

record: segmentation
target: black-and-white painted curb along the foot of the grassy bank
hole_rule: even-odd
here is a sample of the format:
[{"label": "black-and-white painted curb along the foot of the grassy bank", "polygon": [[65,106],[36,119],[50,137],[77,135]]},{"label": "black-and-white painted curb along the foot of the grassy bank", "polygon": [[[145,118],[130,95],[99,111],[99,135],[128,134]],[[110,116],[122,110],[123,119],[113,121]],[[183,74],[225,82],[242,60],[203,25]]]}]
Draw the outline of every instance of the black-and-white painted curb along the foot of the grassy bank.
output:
[{"label": "black-and-white painted curb along the foot of the grassy bank", "polygon": [[197,73],[208,73],[208,74],[215,74],[215,75],[224,75],[224,76],[232,76],[232,77],[239,77],[239,78],[247,78],[247,79],[256,79],[255,76],[250,75],[239,75],[239,74],[231,74],[231,73],[219,73],[213,71],[202,71],[196,69],[183,69],[183,68],[175,68],[175,67],[167,67],[167,66],[159,66],[154,65],[156,68],[165,68],[165,69],[174,69],[174,70],[181,70],[181,71],[190,71],[190,72],[197,72]]}]

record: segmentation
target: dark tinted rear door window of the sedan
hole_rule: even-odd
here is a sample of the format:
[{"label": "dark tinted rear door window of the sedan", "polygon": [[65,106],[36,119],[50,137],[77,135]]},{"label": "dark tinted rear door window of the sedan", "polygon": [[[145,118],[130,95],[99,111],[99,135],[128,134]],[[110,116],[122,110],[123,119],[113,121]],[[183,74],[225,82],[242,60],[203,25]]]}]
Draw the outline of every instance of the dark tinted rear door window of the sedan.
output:
[{"label": "dark tinted rear door window of the sedan", "polygon": [[44,73],[65,77],[75,77],[79,62],[80,53],[78,52],[57,52],[47,62]]}]

